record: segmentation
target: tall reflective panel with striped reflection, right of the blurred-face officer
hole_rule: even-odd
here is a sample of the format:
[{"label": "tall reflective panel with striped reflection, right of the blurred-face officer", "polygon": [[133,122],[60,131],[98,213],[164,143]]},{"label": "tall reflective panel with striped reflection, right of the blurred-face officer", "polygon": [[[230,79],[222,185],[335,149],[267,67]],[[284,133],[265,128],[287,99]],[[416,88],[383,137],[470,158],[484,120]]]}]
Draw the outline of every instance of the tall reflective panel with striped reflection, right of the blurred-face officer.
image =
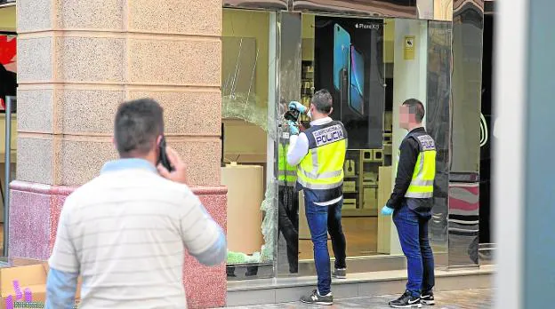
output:
[{"label": "tall reflective panel with striped reflection, right of the blurred-face officer", "polygon": [[453,4],[449,266],[478,265],[479,262],[483,4],[483,2],[460,0]]}]

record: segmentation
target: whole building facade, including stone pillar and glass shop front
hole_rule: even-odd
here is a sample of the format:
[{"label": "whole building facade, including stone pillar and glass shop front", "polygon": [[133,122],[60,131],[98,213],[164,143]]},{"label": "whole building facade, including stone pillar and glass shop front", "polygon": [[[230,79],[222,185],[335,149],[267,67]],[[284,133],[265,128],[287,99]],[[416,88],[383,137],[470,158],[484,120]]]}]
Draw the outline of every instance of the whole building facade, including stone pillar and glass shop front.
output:
[{"label": "whole building facade, including stone pillar and glass shop front", "polygon": [[[226,305],[229,287],[249,279],[314,274],[302,202],[279,183],[279,147],[284,105],[308,105],[326,88],[350,132],[342,219],[350,272],[406,267],[378,210],[405,134],[397,107],[408,98],[425,102],[438,143],[430,223],[438,267],[480,264],[483,0],[0,5],[17,14],[17,27],[0,24],[6,42],[17,40],[10,256],[49,257],[65,198],[117,155],[117,104],[152,97],[195,191],[228,231],[227,265],[186,258],[189,304]],[[296,259],[286,254],[280,203],[298,216]]]}]

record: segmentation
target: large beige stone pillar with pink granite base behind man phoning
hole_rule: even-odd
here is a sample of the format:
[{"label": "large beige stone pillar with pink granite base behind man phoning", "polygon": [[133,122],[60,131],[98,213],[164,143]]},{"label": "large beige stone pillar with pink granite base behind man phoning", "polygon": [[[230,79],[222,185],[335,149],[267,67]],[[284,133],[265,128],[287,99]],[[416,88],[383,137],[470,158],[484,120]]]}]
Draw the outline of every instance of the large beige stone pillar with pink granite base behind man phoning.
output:
[{"label": "large beige stone pillar with pink granite base behind man phoning", "polygon": [[[151,97],[166,137],[189,163],[206,208],[224,226],[220,186],[220,0],[18,0],[18,162],[10,256],[46,259],[76,186],[117,157],[118,103]],[[186,258],[189,305],[225,304],[225,266]]]}]

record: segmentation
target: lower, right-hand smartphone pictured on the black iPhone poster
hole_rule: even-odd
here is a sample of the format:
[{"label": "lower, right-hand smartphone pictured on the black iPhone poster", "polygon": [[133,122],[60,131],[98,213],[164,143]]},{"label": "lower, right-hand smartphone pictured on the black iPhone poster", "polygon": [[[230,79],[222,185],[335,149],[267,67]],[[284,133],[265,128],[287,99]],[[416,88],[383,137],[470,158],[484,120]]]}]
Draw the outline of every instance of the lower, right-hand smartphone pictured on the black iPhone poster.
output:
[{"label": "lower, right-hand smartphone pictured on the black iPhone poster", "polygon": [[355,46],[350,46],[350,100],[349,106],[359,115],[364,115],[364,55]]}]

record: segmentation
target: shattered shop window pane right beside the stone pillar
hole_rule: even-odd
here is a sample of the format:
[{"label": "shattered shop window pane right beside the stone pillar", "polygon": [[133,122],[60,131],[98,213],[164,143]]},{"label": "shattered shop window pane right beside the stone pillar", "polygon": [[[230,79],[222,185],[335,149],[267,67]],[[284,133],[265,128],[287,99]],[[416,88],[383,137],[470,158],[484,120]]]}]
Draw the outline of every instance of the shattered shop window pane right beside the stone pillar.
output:
[{"label": "shattered shop window pane right beside the stone pillar", "polygon": [[277,254],[274,155],[268,149],[276,126],[268,116],[274,106],[269,75],[275,73],[271,15],[223,10],[221,184],[228,187],[229,280],[273,275]]}]

